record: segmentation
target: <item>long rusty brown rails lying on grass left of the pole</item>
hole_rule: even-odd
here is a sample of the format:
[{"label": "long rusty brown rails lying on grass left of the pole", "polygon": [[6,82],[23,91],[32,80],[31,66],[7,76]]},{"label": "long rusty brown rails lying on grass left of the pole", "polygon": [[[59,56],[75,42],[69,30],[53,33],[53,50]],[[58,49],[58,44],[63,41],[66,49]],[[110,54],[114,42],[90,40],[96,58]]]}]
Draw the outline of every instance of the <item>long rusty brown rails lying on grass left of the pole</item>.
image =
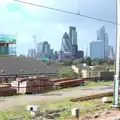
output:
[{"label": "long rusty brown rails lying on grass left of the pole", "polygon": [[[119,90],[119,94],[120,94],[120,90]],[[70,99],[70,101],[71,102],[87,101],[87,100],[99,99],[102,97],[110,97],[110,96],[113,96],[113,92],[106,92],[106,93],[89,95],[89,96],[85,96],[85,97]]]}]

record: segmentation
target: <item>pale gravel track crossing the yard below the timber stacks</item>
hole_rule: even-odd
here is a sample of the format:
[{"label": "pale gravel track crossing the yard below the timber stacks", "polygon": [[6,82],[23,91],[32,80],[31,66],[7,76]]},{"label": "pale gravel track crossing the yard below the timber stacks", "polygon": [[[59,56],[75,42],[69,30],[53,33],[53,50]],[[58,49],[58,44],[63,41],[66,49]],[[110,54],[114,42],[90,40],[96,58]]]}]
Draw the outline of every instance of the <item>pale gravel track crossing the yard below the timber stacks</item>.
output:
[{"label": "pale gravel track crossing the yard below the timber stacks", "polygon": [[104,93],[113,91],[112,85],[106,85],[101,87],[89,87],[89,88],[73,88],[71,90],[53,92],[47,94],[38,95],[21,95],[13,97],[0,98],[0,110],[8,109],[11,107],[17,107],[20,105],[26,105],[34,102],[48,102],[48,101],[60,101],[75,97],[87,96],[96,93]]}]

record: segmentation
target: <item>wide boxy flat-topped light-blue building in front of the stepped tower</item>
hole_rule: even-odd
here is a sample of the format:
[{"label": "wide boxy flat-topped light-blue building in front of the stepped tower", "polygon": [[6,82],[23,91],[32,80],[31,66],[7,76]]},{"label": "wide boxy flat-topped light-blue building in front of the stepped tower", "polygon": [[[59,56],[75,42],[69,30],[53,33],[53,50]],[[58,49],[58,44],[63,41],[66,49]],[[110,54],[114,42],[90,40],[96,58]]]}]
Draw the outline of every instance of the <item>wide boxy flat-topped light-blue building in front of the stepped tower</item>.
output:
[{"label": "wide boxy flat-topped light-blue building in front of the stepped tower", "polygon": [[103,41],[93,41],[90,43],[90,57],[94,58],[104,58],[104,43]]}]

